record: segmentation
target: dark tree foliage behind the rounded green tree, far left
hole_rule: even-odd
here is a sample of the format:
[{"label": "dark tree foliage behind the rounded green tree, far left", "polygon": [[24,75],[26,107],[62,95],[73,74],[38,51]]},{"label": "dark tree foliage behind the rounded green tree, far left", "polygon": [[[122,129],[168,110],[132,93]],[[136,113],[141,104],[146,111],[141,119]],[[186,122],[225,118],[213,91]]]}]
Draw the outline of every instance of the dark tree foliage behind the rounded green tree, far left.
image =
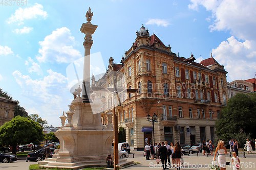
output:
[{"label": "dark tree foliage behind the rounded green tree, far left", "polygon": [[24,107],[20,106],[19,101],[13,100],[12,96],[10,96],[6,91],[3,91],[2,88],[0,88],[0,96],[4,97],[5,99],[17,102],[17,105],[14,107],[14,117],[18,115],[22,117],[28,117],[28,112]]}]

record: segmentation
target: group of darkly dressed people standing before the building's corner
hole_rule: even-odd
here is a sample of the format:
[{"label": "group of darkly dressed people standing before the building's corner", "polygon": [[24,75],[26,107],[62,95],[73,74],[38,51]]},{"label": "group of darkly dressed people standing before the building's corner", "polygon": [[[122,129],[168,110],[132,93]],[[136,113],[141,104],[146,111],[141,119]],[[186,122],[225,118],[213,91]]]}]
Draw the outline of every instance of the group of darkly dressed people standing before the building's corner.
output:
[{"label": "group of darkly dressed people standing before the building's corner", "polygon": [[[175,142],[175,145],[173,142],[170,142],[169,145],[167,141],[162,141],[159,144],[155,143],[154,146],[153,143],[151,145],[146,144],[144,150],[146,152],[146,160],[150,160],[150,154],[151,159],[154,159],[155,156],[160,158],[163,169],[169,167],[180,169],[182,152],[178,141]],[[170,158],[172,158],[172,163],[170,162]]]}]

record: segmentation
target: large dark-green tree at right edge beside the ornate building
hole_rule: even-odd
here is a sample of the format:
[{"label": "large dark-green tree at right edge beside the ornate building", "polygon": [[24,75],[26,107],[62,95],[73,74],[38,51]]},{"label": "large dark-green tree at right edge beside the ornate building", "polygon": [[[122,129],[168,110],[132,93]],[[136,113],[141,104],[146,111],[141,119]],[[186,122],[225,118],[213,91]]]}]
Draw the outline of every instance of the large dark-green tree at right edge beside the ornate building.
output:
[{"label": "large dark-green tree at right edge beside the ornate building", "polygon": [[[230,98],[216,121],[218,138],[229,141],[235,136],[256,137],[256,94],[238,93]],[[249,138],[249,136],[247,136]],[[239,141],[239,143],[245,141]]]}]

